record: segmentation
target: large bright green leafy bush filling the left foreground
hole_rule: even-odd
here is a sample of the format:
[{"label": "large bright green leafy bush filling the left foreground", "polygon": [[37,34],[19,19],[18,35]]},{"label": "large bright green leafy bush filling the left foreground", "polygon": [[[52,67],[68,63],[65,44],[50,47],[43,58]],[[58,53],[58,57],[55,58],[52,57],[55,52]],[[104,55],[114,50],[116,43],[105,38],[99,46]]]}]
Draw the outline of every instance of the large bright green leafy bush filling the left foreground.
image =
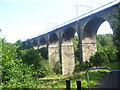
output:
[{"label": "large bright green leafy bush filling the left foreground", "polygon": [[2,39],[2,88],[37,88],[32,66],[17,59],[17,46]]}]

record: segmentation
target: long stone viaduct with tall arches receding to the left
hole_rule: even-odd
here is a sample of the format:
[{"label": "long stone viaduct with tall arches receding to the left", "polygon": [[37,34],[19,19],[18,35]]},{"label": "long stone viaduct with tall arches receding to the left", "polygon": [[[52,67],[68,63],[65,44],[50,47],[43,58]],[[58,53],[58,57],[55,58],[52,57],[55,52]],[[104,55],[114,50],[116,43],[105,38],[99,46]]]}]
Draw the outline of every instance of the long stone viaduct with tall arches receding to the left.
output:
[{"label": "long stone viaduct with tall arches receding to the left", "polygon": [[116,13],[118,13],[118,3],[88,16],[78,17],[77,20],[71,23],[26,40],[23,43],[31,44],[34,48],[38,49],[47,46],[50,66],[54,67],[57,62],[61,62],[62,74],[71,74],[75,68],[73,47],[75,33],[78,34],[79,38],[79,61],[82,63],[89,60],[90,56],[97,51],[96,34],[99,26],[104,21],[109,22],[114,34],[114,22],[117,21],[114,14]]}]

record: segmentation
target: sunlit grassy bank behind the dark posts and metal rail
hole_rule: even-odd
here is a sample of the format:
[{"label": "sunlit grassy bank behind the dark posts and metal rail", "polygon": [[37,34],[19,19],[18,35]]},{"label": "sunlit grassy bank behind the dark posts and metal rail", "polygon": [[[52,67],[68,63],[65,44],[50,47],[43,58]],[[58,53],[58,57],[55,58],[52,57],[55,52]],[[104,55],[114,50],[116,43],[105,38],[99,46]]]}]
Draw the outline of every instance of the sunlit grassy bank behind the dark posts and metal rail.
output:
[{"label": "sunlit grassy bank behind the dark posts and metal rail", "polygon": [[[120,63],[114,63],[109,65],[111,69],[116,69],[120,66]],[[91,70],[89,71],[90,76],[90,87],[95,86],[102,76],[108,72],[108,70]],[[88,88],[86,71],[74,73],[71,75],[48,75],[44,78],[39,78],[40,88],[66,88],[66,80],[71,81],[71,88],[77,88],[76,81],[82,82],[82,88]]]}]

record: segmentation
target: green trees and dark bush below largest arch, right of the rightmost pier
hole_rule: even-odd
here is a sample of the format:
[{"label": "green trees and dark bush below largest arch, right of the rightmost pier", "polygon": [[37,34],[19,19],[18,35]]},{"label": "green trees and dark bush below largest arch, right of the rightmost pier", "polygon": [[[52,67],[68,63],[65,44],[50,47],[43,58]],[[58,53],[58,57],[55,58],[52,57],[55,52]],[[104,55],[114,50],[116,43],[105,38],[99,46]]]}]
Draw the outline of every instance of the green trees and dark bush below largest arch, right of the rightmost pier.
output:
[{"label": "green trees and dark bush below largest arch, right of the rightmost pier", "polygon": [[93,66],[103,66],[116,62],[116,47],[113,43],[113,35],[97,35],[96,38],[98,51],[90,58]]}]

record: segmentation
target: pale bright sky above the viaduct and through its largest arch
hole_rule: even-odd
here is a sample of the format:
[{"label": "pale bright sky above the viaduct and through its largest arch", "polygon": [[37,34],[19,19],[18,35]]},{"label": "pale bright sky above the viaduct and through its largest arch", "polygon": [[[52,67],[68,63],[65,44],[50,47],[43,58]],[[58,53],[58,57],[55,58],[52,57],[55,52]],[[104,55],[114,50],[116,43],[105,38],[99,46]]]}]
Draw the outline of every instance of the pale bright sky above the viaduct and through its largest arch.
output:
[{"label": "pale bright sky above the viaduct and through its largest arch", "polygon": [[[0,37],[11,43],[24,41],[111,1],[114,0],[0,0]],[[103,33],[112,33],[107,22],[98,30],[98,34]]]}]

